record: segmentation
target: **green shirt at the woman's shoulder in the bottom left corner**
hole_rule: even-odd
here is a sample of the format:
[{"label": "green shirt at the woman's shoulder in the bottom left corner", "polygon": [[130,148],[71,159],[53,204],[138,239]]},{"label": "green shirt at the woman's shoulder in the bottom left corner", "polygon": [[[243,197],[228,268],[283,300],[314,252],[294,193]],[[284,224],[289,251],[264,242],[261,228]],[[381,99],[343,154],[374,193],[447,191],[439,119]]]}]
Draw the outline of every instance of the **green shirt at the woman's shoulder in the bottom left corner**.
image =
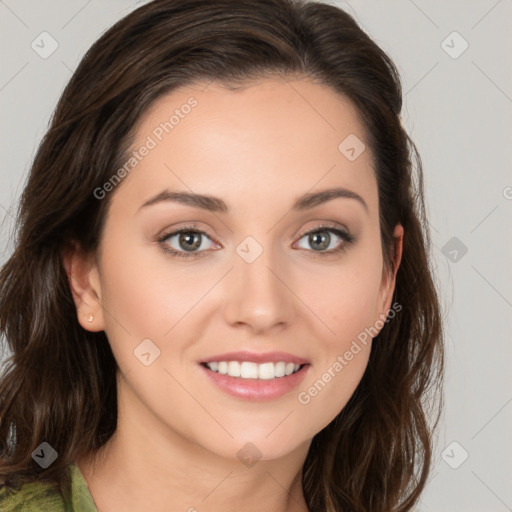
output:
[{"label": "green shirt at the woman's shoulder in the bottom left corner", "polygon": [[0,510],[2,512],[98,512],[87,482],[76,464],[70,464],[71,494],[62,496],[51,484],[31,482],[8,494],[0,486]]}]

